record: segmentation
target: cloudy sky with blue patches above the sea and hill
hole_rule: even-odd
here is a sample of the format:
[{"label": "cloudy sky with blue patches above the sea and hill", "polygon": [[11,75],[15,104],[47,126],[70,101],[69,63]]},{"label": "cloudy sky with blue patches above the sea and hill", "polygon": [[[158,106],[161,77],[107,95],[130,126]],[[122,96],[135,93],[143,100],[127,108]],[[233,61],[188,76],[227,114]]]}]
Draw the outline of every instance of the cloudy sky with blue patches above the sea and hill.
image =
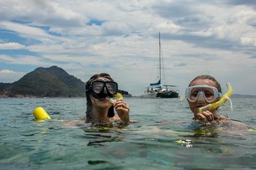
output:
[{"label": "cloudy sky with blue patches above the sea and hill", "polygon": [[183,94],[199,74],[226,91],[256,95],[253,0],[1,0],[0,82],[57,65],[87,81],[107,72],[140,95],[157,81],[159,32],[163,84]]}]

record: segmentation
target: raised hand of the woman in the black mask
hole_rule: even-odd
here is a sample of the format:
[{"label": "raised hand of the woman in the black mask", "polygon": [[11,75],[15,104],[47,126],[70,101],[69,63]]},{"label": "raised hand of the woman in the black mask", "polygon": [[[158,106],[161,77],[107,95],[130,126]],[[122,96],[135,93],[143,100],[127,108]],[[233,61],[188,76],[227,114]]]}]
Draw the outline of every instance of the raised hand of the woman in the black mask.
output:
[{"label": "raised hand of the woman in the black mask", "polygon": [[119,118],[124,123],[129,123],[129,105],[124,100],[119,100],[113,104],[114,109],[117,111]]}]

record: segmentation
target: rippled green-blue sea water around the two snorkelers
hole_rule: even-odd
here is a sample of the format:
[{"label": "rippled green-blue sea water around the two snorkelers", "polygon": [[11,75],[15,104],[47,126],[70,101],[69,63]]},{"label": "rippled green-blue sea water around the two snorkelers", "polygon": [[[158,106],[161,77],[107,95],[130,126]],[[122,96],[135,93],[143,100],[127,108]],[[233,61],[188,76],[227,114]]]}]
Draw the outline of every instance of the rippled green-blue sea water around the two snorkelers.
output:
[{"label": "rippled green-blue sea water around the two snorkelers", "polygon": [[[66,128],[85,98],[0,98],[0,169],[256,169],[256,132],[195,130],[178,98],[125,98],[124,127]],[[256,98],[232,98],[221,114],[256,128]],[[36,122],[41,106],[53,118]]]}]

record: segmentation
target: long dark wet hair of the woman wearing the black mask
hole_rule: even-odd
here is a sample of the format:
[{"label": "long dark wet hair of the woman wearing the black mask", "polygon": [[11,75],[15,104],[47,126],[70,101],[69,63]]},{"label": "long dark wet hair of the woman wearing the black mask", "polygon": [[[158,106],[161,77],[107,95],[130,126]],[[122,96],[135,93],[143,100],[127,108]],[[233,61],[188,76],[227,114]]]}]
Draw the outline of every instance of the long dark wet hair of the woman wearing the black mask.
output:
[{"label": "long dark wet hair of the woman wearing the black mask", "polygon": [[[110,81],[114,81],[114,79],[112,79],[112,77],[110,77],[110,74],[107,74],[107,73],[100,73],[100,74],[95,74],[93,75],[92,77],[90,77],[90,79],[86,82],[85,84],[85,94],[86,94],[86,100],[87,100],[87,108],[86,108],[86,118],[87,120],[90,120],[92,119],[91,118],[91,114],[92,114],[92,101],[91,101],[91,98],[90,98],[90,86],[92,85],[92,82],[95,81],[96,79],[100,78],[100,77],[103,77],[105,79],[109,79]],[[108,113],[107,113],[107,117],[109,118],[112,118],[114,117],[114,107],[111,106],[108,110]]]}]

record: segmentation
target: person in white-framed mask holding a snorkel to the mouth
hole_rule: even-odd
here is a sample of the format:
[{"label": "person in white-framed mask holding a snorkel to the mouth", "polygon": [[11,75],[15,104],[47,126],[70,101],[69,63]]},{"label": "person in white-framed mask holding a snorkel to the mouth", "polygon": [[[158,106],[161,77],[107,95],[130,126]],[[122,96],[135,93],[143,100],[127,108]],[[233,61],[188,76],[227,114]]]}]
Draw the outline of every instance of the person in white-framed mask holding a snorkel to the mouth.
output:
[{"label": "person in white-framed mask holding a snorkel to the mouth", "polygon": [[[233,93],[233,89],[231,92]],[[233,128],[247,129],[245,124],[231,120],[227,115],[217,114],[219,106],[213,107],[214,103],[218,103],[218,101],[228,98],[228,96],[222,94],[220,84],[214,77],[208,75],[196,77],[188,85],[185,96],[196,122],[203,125],[227,125]]]}]

